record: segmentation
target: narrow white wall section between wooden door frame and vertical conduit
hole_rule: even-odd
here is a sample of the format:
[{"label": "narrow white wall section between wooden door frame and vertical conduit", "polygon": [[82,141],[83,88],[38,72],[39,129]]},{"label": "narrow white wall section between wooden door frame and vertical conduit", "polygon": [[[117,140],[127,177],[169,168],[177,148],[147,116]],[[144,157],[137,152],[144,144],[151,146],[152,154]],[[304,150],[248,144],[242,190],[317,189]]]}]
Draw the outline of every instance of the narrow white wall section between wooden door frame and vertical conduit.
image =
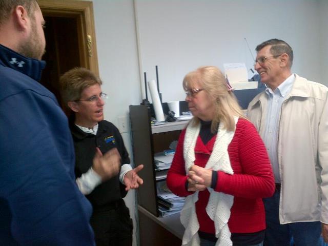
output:
[{"label": "narrow white wall section between wooden door frame and vertical conduit", "polygon": [[93,1],[103,90],[109,94],[106,118],[113,121],[140,102],[138,57],[132,1]]}]

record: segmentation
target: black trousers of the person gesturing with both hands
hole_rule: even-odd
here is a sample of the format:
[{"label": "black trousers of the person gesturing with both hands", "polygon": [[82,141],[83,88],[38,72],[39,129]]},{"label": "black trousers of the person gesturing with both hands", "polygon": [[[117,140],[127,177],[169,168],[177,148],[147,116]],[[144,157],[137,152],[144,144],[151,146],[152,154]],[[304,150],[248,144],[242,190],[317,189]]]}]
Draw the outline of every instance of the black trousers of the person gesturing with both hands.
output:
[{"label": "black trousers of the person gesturing with both hands", "polygon": [[133,223],[124,200],[113,208],[95,209],[90,224],[97,246],[131,246]]}]

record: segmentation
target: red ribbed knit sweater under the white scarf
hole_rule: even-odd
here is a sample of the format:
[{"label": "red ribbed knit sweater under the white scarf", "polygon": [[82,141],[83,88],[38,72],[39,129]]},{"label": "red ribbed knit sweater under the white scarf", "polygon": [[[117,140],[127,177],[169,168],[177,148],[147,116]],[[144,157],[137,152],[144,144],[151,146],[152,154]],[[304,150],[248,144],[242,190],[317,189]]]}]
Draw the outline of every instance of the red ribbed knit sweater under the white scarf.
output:
[{"label": "red ribbed knit sweater under the white scarf", "polygon": [[[183,141],[186,130],[180,134],[167,183],[178,196],[193,194],[186,190],[187,181]],[[195,165],[205,167],[212,153],[216,135],[204,145],[198,136],[195,146]],[[228,147],[233,175],[218,171],[215,191],[234,196],[231,216],[228,222],[232,233],[253,233],[265,229],[265,213],[262,198],[270,197],[275,190],[272,168],[264,147],[253,124],[239,119],[233,139]],[[214,222],[206,213],[209,191],[200,191],[196,202],[199,230],[215,234]]]}]

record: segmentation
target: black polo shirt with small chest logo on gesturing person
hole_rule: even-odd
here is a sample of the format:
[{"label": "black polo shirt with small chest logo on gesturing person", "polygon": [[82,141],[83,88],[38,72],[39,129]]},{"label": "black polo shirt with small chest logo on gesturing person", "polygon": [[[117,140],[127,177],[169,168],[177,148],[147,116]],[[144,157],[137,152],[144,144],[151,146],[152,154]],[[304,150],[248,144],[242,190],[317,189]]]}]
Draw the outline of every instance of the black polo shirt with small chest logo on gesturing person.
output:
[{"label": "black polo shirt with small chest logo on gesturing person", "polygon": [[[70,123],[70,129],[75,148],[75,175],[80,177],[86,173],[93,164],[93,157],[98,147],[105,154],[116,147],[122,158],[122,164],[129,164],[129,154],[118,129],[109,121],[98,122],[97,135],[85,133],[74,122]],[[119,174],[101,183],[86,197],[94,208],[106,207],[107,204],[125,197],[125,186],[119,181]]]}]

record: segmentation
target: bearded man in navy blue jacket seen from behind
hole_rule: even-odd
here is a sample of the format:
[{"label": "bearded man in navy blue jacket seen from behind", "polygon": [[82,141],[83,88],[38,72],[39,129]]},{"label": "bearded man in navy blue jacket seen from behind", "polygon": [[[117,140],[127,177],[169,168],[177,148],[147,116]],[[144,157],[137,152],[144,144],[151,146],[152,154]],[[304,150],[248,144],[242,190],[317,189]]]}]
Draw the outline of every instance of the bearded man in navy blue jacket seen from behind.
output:
[{"label": "bearded man in navy blue jacket seen from behind", "polygon": [[94,245],[67,117],[37,82],[44,24],[35,0],[0,0],[0,244]]}]

